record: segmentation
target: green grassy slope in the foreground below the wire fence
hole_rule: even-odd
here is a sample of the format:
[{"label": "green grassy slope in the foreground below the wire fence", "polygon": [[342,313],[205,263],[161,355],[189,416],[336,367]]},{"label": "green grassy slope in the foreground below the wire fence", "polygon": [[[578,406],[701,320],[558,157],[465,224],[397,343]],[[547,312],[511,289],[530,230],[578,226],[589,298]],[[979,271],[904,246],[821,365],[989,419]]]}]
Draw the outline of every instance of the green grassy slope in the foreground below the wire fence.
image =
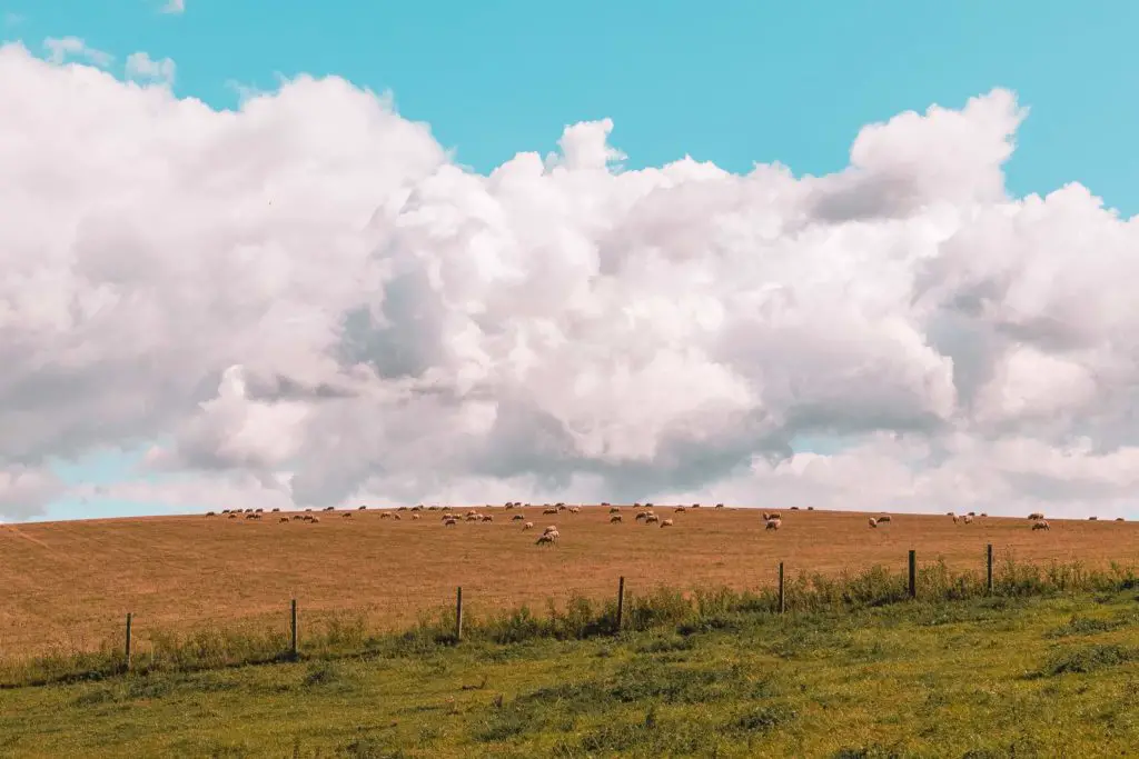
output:
[{"label": "green grassy slope in the foreground below the wire fence", "polygon": [[[555,622],[524,613],[473,621],[458,645],[442,627],[368,640],[349,625],[326,632],[296,662],[197,669],[200,661],[156,659],[149,671],[0,691],[0,754],[1084,758],[1139,750],[1133,577],[1114,589],[1103,579],[1098,591],[1036,588],[1043,595],[1006,584],[991,597],[943,592],[925,602],[899,600],[895,580],[849,578],[835,603],[793,595],[800,608],[785,617],[771,613],[768,597],[688,602],[662,592],[632,602],[630,629],[617,636],[599,632],[612,608],[576,617],[571,608]],[[851,595],[859,583],[878,589]],[[954,595],[965,597],[947,600]]]}]

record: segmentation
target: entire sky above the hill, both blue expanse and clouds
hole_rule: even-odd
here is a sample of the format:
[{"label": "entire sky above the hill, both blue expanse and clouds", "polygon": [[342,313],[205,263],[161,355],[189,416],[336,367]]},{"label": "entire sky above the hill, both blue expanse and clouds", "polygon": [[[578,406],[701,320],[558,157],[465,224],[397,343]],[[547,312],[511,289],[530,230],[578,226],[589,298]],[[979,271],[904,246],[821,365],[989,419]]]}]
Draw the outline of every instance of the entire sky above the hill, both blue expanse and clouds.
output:
[{"label": "entire sky above the hill, both blue expanse and clouds", "polygon": [[0,519],[1139,517],[1139,7],[792,5],[0,0]]}]

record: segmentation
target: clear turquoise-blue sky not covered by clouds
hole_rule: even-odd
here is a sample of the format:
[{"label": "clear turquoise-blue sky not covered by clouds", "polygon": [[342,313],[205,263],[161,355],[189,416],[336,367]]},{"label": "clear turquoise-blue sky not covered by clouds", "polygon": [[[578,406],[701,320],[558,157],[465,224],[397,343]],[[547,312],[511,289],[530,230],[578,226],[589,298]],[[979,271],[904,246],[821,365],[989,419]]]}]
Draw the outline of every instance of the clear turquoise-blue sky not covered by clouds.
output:
[{"label": "clear turquoise-blue sky not covered by clouds", "polygon": [[[162,14],[163,2],[0,0],[0,36],[39,51],[74,35],[120,65],[137,50],[170,57],[175,92],[215,107],[237,105],[233,83],[337,74],[392,90],[483,172],[608,116],[626,166],[689,154],[734,171],[779,160],[826,173],[863,124],[1001,85],[1031,108],[1008,166],[1014,192],[1080,181],[1125,214],[1139,208],[1134,2],[186,0]],[[99,455],[60,473],[113,481],[131,461]],[[147,510],[68,502],[50,515]]]}]

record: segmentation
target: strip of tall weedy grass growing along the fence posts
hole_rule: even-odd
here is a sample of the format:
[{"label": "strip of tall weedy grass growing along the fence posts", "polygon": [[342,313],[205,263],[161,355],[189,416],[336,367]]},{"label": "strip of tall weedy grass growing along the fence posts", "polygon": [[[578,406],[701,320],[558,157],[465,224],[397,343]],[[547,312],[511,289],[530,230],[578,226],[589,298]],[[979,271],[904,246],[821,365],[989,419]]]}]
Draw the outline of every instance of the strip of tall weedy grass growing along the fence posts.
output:
[{"label": "strip of tall weedy grass growing along the fence posts", "polygon": [[[949,603],[988,595],[980,572],[957,571],[944,561],[919,567],[917,596],[927,604]],[[1106,570],[1081,562],[1047,566],[1018,563],[1007,555],[993,568],[993,592],[999,597],[1047,596],[1063,593],[1105,593],[1139,588],[1133,567],[1112,563]],[[908,579],[883,567],[837,576],[802,574],[785,581],[790,614],[842,613],[909,600]],[[661,587],[645,594],[625,594],[622,628],[642,632],[675,628],[681,634],[730,627],[747,614],[778,612],[778,589],[732,591],[697,588],[681,592]],[[539,638],[582,640],[617,633],[616,599],[572,597],[563,608],[552,601],[544,614],[528,607],[464,619],[464,641],[509,645]],[[363,618],[333,617],[306,629],[301,658],[347,655],[404,657],[429,653],[456,644],[454,610],[425,612],[411,629],[400,634],[369,632]],[[132,654],[131,670],[195,671],[290,660],[288,632],[282,625],[262,630],[202,629],[188,634],[149,630]],[[56,651],[47,655],[0,661],[0,687],[101,679],[125,670],[121,641],[107,641],[95,651]]]}]

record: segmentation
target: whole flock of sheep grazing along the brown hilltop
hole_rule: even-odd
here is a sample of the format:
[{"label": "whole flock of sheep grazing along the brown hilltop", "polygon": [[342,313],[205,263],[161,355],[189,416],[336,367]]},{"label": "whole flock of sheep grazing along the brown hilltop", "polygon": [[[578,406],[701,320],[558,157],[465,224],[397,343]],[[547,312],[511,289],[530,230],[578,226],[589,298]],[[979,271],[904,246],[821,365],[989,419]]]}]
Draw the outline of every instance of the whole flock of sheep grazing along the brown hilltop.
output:
[{"label": "whole flock of sheep grazing along the brown hilltop", "polygon": [[[608,509],[609,523],[617,525],[617,523],[622,523],[624,521],[624,518],[623,518],[623,514],[622,514],[622,511],[621,511],[620,506],[614,506],[614,505],[612,505],[609,503],[603,503],[601,506]],[[486,508],[491,509],[493,506],[487,505]],[[525,504],[525,505],[523,505],[522,502],[508,502],[503,508],[507,511],[510,511],[510,510],[521,510],[521,509],[532,509],[532,508],[535,508],[535,506],[533,506],[532,504],[528,504],[528,503]],[[566,505],[565,503],[557,503],[557,504],[552,504],[552,505],[551,504],[544,504],[544,505],[542,505],[540,508],[542,509],[542,515],[543,517],[544,515],[555,515],[556,517],[556,515],[562,514],[562,513],[566,513],[566,514],[579,514],[579,513],[581,513],[581,506],[571,506],[571,505]],[[682,514],[688,509],[699,509],[699,508],[700,508],[700,504],[698,504],[698,503],[694,503],[694,504],[691,504],[691,506],[687,506],[687,508],[686,506],[675,506],[673,509],[673,513],[675,513],[675,514]],[[724,505],[722,503],[715,504],[715,509],[723,509],[723,508],[724,508]],[[366,511],[367,509],[368,509],[368,506],[359,506],[357,509],[357,511]],[[673,521],[672,518],[662,519],[654,511],[654,506],[653,506],[652,503],[645,503],[645,504],[634,503],[632,505],[632,509],[637,513],[637,515],[633,518],[634,521],[637,521],[637,522],[644,522],[645,525],[658,525],[662,528],[664,528],[664,527],[673,527],[675,525],[675,522]],[[813,511],[813,510],[814,510],[813,506],[809,506],[808,508],[808,511]],[[335,512],[336,508],[335,506],[327,506],[327,508],[325,508],[323,511],[325,512]],[[419,505],[416,505],[416,506],[400,506],[398,509],[382,510],[380,513],[379,513],[379,518],[380,519],[391,519],[391,520],[401,520],[401,519],[404,518],[404,514],[407,514],[412,520],[418,520],[418,519],[421,518],[420,512],[423,512],[423,511],[440,511],[440,512],[442,512],[442,517],[440,518],[440,520],[442,521],[442,523],[443,523],[444,527],[454,527],[460,521],[465,521],[465,522],[493,522],[494,521],[494,515],[493,514],[483,513],[483,512],[477,511],[475,509],[468,510],[460,518],[459,514],[454,510],[452,510],[451,506],[437,506],[437,505],[436,506],[425,506],[423,504],[419,504]],[[798,511],[798,506],[792,506],[792,511]],[[277,513],[277,512],[280,512],[280,509],[272,509],[271,510],[271,513]],[[317,514],[311,513],[311,512],[312,512],[312,509],[305,509],[304,513],[294,513],[292,515],[281,514],[281,515],[278,517],[278,521],[279,522],[302,521],[302,522],[308,522],[308,523],[320,523],[320,517],[318,517]],[[779,511],[771,511],[771,512],[762,511],[760,513],[761,513],[761,515],[763,518],[763,525],[764,525],[764,529],[765,530],[778,530],[782,526],[782,513],[781,512],[779,512]],[[264,509],[244,509],[244,510],[243,509],[232,509],[232,510],[230,510],[230,509],[223,509],[221,511],[221,515],[228,517],[229,519],[244,518],[244,519],[253,520],[253,521],[260,521],[263,518],[263,514],[264,514]],[[973,511],[968,512],[967,514],[961,514],[961,515],[958,515],[954,512],[950,511],[950,512],[948,512],[948,514],[949,514],[949,517],[951,517],[953,519],[953,523],[954,525],[957,525],[957,523],[970,525],[970,523],[973,523],[974,519],[985,518],[985,517],[989,515],[989,514],[986,514],[984,512],[982,512],[981,514],[977,514],[976,512],[973,512]],[[213,512],[213,511],[206,512],[206,517],[216,517],[216,515],[218,514],[215,512]],[[351,511],[342,512],[341,517],[342,517],[342,519],[352,519],[352,512]],[[1095,521],[1096,517],[1090,517],[1089,519],[1092,520],[1092,521]],[[1051,527],[1048,523],[1048,520],[1044,519],[1044,515],[1042,513],[1040,513],[1040,512],[1033,512],[1033,513],[1029,514],[1029,520],[1032,522],[1032,529],[1033,530],[1049,530],[1049,529],[1051,529]],[[522,522],[522,529],[523,529],[523,531],[527,531],[527,530],[534,529],[534,522],[526,521],[525,515],[522,514],[522,513],[514,514],[511,517],[510,521]],[[880,514],[878,517],[870,517],[869,520],[868,520],[868,523],[869,523],[869,526],[870,526],[871,529],[876,529],[880,525],[885,525],[885,523],[888,523],[888,522],[892,522],[892,521],[893,521],[893,517],[891,517],[890,514]],[[1118,518],[1116,518],[1115,521],[1122,522],[1123,518],[1118,517]],[[555,545],[559,536],[560,536],[560,534],[558,533],[557,526],[556,525],[550,525],[544,530],[542,530],[542,534],[538,537],[538,541],[535,541],[535,545]]]}]

